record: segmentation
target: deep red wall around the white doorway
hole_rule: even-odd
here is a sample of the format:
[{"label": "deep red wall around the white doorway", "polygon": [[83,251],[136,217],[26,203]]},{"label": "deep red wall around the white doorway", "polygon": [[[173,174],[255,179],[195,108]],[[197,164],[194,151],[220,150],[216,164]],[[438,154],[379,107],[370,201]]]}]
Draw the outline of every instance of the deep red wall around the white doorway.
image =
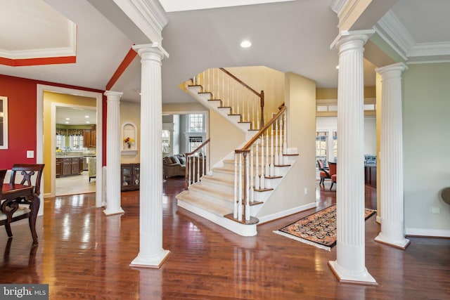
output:
[{"label": "deep red wall around the white doorway", "polygon": [[[0,169],[11,169],[13,164],[36,163],[36,89],[37,84],[60,86],[69,89],[94,91],[67,84],[55,84],[0,74],[0,96],[8,97],[8,149],[0,149]],[[103,136],[106,129],[106,105],[103,96]],[[105,166],[106,143],[103,138],[103,166]],[[27,158],[27,150],[34,150],[34,158]]]}]

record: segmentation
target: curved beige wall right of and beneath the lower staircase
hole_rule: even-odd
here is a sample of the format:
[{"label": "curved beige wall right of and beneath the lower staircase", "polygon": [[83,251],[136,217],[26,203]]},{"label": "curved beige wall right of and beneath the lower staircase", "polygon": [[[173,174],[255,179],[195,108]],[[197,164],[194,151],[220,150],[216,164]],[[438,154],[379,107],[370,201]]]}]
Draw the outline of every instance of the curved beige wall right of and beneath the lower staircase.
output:
[{"label": "curved beige wall right of and beneath the lower staircase", "polygon": [[[297,148],[297,162],[259,211],[261,218],[273,211],[294,209],[316,201],[316,83],[294,73],[285,74],[288,148]],[[307,189],[307,195],[304,190]],[[277,201],[278,200],[278,201]],[[279,200],[283,200],[282,202]]]}]

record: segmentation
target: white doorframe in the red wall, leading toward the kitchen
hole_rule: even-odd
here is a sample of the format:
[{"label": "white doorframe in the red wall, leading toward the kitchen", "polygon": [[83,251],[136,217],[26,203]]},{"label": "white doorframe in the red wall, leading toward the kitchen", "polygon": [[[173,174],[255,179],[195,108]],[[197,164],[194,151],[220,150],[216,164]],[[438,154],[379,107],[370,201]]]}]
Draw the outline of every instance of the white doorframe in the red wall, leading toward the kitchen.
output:
[{"label": "white doorframe in the red wall, leading toward the kitchen", "polygon": [[[96,136],[96,150],[97,150],[97,164],[96,164],[96,207],[103,207],[103,93],[82,91],[79,89],[69,89],[60,86],[51,86],[45,84],[37,84],[37,131],[36,131],[36,161],[38,164],[44,163],[44,91],[52,93],[64,93],[73,96],[84,96],[88,98],[96,98],[97,110],[97,136]],[[52,139],[54,146],[54,139]],[[52,161],[56,159],[56,154],[51,152]],[[56,181],[56,164],[51,164],[51,194],[44,195],[44,197],[55,197],[55,181]],[[39,216],[44,214],[44,201],[41,202],[39,208]]]}]

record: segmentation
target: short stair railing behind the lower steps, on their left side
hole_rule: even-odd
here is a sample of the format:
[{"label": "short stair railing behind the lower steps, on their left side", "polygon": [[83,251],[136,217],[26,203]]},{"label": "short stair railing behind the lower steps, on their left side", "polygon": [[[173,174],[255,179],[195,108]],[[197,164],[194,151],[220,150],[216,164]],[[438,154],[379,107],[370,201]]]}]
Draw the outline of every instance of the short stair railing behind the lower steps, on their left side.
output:
[{"label": "short stair railing behind the lower steps, on their left side", "polygon": [[210,139],[184,156],[186,157],[184,188],[188,188],[189,185],[201,181],[203,175],[210,173]]}]

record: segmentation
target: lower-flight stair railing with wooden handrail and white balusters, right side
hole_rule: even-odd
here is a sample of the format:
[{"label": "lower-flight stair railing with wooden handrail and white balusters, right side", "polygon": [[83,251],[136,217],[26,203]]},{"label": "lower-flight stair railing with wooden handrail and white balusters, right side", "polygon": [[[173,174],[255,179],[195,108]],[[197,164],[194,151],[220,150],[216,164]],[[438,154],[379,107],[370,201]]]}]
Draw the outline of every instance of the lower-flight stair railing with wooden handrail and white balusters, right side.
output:
[{"label": "lower-flight stair railing with wooden handrail and white balusters, right side", "polygon": [[255,203],[255,191],[270,190],[266,178],[277,176],[274,167],[284,164],[283,155],[287,154],[285,112],[286,107],[282,105],[242,149],[234,151],[233,219],[236,221],[250,222],[250,205]]}]

